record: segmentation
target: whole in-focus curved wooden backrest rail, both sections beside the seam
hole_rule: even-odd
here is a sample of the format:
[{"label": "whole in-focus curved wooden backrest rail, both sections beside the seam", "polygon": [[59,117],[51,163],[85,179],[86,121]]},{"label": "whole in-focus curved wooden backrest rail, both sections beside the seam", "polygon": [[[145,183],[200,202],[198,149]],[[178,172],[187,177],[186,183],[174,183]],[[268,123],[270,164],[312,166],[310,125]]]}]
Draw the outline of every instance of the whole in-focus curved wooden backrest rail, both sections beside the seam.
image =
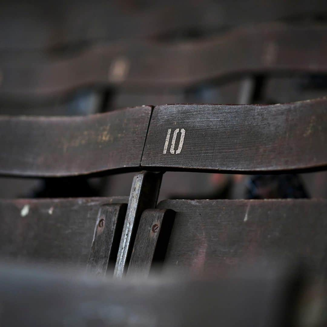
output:
[{"label": "whole in-focus curved wooden backrest rail, both sections beside the seam", "polygon": [[1,117],[0,173],[271,173],[327,166],[327,98],[277,105],[162,105],[151,119],[150,114],[144,106],[88,117]]}]

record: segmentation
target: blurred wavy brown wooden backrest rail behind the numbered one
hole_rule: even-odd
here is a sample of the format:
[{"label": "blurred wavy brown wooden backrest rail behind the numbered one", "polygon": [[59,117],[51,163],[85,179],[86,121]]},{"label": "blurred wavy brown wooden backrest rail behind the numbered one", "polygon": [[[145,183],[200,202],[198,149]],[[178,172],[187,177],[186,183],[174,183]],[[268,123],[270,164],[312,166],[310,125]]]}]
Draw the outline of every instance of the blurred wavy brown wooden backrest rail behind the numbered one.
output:
[{"label": "blurred wavy brown wooden backrest rail behind the numbered one", "polygon": [[64,58],[3,56],[0,97],[57,96],[83,85],[185,88],[257,72],[326,73],[326,35],[326,26],[268,24],[176,45],[139,41],[94,45]]}]

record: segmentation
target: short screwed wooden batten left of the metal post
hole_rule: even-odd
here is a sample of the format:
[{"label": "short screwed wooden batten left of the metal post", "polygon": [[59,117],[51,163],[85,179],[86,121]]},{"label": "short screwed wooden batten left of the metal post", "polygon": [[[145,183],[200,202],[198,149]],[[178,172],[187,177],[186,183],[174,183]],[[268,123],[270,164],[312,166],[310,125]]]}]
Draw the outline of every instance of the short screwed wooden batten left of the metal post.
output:
[{"label": "short screwed wooden batten left of the metal post", "polygon": [[[127,204],[105,204],[99,209],[87,270],[105,276],[117,260]],[[111,266],[111,267],[110,267]]]}]

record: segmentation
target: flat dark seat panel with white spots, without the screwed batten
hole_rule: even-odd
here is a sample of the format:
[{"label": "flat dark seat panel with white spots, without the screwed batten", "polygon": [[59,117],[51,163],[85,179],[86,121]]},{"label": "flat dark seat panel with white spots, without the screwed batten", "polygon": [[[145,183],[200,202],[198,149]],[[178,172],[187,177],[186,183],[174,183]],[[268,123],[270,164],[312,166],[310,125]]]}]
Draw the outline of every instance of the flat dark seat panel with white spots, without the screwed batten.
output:
[{"label": "flat dark seat panel with white spots, without the screwed batten", "polygon": [[86,267],[99,208],[127,197],[0,200],[0,256]]}]

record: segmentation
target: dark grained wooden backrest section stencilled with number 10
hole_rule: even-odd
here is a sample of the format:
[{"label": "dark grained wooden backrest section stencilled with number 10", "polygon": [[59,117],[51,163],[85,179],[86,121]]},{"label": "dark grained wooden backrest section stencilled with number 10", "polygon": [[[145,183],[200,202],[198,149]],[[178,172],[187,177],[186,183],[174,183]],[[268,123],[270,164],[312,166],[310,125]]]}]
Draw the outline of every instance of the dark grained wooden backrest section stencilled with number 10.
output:
[{"label": "dark grained wooden backrest section stencilled with number 10", "polygon": [[326,98],[277,105],[162,105],[153,110],[141,165],[261,173],[324,169],[326,141]]}]

